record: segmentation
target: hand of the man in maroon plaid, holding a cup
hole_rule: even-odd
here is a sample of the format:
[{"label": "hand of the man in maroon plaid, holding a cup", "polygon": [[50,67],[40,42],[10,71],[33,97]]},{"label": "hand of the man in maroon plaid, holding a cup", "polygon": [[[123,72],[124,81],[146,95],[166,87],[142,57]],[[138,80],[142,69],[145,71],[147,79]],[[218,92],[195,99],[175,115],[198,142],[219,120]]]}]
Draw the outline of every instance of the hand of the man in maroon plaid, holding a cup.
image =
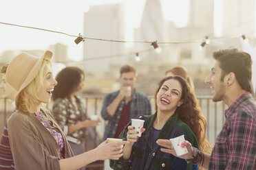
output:
[{"label": "hand of the man in maroon plaid, holding a cup", "polygon": [[158,139],[158,141],[156,141],[156,143],[158,143],[158,145],[160,145],[162,147],[167,147],[167,149],[161,148],[161,151],[163,151],[163,152],[173,154],[174,156],[176,156],[178,158],[182,158],[182,159],[191,159],[191,158],[193,158],[192,156],[194,154],[194,149],[193,149],[191,143],[189,143],[189,141],[184,141],[184,145],[186,146],[186,149],[188,150],[188,153],[184,154],[182,156],[177,156],[170,140],[168,140],[168,139]]}]

